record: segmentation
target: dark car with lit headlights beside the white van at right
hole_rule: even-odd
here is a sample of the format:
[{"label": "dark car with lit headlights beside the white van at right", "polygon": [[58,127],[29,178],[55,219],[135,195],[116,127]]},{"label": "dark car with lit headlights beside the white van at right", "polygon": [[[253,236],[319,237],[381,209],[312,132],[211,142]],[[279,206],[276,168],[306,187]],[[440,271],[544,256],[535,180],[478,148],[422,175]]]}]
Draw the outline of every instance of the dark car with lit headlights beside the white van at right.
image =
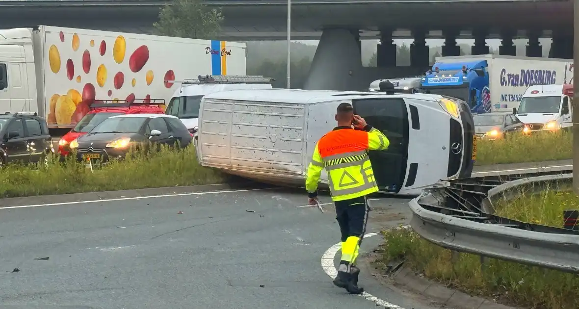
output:
[{"label": "dark car with lit headlights beside the white van at right", "polygon": [[475,134],[479,138],[504,138],[510,133],[526,133],[529,128],[512,113],[477,114],[474,120]]}]

